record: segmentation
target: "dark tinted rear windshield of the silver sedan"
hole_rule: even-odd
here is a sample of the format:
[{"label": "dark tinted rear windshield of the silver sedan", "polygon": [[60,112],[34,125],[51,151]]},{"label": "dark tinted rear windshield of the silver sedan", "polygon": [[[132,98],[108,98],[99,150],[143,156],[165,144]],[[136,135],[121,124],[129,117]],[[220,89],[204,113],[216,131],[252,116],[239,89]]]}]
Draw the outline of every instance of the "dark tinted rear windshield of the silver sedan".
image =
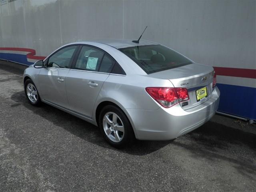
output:
[{"label": "dark tinted rear windshield of the silver sedan", "polygon": [[192,63],[181,54],[162,45],[143,45],[119,50],[134,60],[147,74]]}]

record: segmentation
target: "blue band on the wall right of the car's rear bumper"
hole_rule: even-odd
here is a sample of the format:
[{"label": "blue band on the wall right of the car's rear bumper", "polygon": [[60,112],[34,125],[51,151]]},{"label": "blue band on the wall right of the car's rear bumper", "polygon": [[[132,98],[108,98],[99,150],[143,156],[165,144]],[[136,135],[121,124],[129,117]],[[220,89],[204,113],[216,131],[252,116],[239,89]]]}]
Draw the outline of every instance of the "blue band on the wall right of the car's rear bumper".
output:
[{"label": "blue band on the wall right of the car's rear bumper", "polygon": [[220,89],[218,111],[256,120],[256,88],[217,84]]}]

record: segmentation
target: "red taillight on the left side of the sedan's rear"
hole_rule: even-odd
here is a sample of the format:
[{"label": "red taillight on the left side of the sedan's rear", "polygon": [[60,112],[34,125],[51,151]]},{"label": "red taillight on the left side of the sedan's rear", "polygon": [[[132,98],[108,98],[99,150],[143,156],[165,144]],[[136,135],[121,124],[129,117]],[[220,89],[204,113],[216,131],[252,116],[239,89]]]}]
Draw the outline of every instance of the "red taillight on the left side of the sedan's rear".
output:
[{"label": "red taillight on the left side of the sedan's rear", "polygon": [[189,100],[186,88],[147,87],[146,92],[165,108]]}]

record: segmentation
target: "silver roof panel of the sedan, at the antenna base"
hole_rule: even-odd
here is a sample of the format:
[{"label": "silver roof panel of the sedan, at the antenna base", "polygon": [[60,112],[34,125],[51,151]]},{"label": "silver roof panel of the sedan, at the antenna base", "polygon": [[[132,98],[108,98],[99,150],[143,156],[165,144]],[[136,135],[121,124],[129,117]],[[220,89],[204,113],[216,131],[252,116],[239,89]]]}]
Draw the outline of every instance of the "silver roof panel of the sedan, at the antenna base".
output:
[{"label": "silver roof panel of the sedan, at the antenna base", "polygon": [[[79,42],[81,44],[87,44],[88,42],[96,42],[96,43],[102,43],[107,44],[109,46],[112,46],[114,48],[126,48],[126,47],[134,47],[134,46],[141,46],[141,45],[157,45],[156,42],[146,41],[146,40],[140,40],[139,43],[134,43],[132,40],[128,39],[104,39],[104,40],[93,40],[93,41],[86,41],[86,42]],[[76,42],[78,43],[78,42]],[[75,42],[72,44],[76,44]]]}]

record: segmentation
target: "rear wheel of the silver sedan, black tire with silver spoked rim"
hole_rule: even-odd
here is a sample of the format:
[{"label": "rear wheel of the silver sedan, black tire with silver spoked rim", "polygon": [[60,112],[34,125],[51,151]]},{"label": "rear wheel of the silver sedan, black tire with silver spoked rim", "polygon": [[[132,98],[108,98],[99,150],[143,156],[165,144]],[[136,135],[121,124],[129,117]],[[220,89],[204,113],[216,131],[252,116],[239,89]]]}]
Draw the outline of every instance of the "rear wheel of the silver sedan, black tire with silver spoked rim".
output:
[{"label": "rear wheel of the silver sedan, black tire with silver spoked rim", "polygon": [[116,148],[126,147],[135,139],[130,121],[116,106],[108,105],[102,108],[98,122],[104,138]]}]

